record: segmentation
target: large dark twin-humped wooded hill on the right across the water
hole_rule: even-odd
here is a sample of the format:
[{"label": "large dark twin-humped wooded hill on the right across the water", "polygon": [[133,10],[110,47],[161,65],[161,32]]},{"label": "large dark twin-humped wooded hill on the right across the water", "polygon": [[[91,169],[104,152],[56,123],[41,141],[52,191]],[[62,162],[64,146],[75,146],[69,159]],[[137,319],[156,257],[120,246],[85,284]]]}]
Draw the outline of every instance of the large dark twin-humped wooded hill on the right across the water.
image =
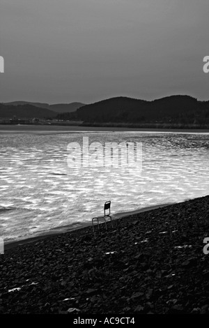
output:
[{"label": "large dark twin-humped wooded hill on the right across the water", "polygon": [[59,114],[60,119],[79,119],[84,123],[198,123],[209,122],[209,101],[190,96],[169,96],[153,101],[116,97],[84,105],[74,113]]}]

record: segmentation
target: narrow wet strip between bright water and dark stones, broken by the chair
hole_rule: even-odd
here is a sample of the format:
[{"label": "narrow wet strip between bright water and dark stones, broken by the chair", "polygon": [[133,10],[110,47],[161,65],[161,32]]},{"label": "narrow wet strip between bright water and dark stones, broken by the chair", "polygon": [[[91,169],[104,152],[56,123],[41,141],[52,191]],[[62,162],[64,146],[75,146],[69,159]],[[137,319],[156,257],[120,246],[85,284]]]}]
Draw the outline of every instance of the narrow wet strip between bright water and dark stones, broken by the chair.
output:
[{"label": "narrow wet strip between bright water and dark stones, broken by the chair", "polygon": [[[136,209],[134,211],[127,211],[127,212],[118,212],[116,214],[112,214],[112,220],[118,220],[120,218],[126,218],[128,216],[132,216],[134,214],[140,214],[144,213],[146,211],[153,211],[155,209],[159,209],[162,207],[167,207],[173,204],[179,204],[179,203],[165,203],[165,204],[160,204],[160,205],[151,205],[148,207],[143,207],[141,209]],[[77,225],[77,227],[75,227]],[[36,241],[44,240],[50,237],[57,236],[59,234],[65,234],[66,232],[72,232],[75,230],[82,230],[85,229],[86,227],[91,227],[91,221],[89,223],[79,223],[75,222],[72,223],[71,225],[63,225],[61,227],[56,227],[52,228],[50,230],[45,230],[42,234],[38,234],[37,236],[34,237],[26,237],[25,239],[18,239],[18,240],[8,240],[5,241],[4,243],[4,250],[7,251],[11,248],[15,248],[17,246],[22,246],[25,244],[31,244]]]}]

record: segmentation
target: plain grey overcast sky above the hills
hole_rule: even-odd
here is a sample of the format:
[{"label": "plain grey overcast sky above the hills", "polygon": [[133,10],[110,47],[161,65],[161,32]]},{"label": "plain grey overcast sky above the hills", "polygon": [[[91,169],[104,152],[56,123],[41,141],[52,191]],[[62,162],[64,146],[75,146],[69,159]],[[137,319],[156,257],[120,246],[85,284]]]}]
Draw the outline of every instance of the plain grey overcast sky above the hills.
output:
[{"label": "plain grey overcast sky above the hills", "polygon": [[209,99],[208,0],[0,0],[0,102]]}]

